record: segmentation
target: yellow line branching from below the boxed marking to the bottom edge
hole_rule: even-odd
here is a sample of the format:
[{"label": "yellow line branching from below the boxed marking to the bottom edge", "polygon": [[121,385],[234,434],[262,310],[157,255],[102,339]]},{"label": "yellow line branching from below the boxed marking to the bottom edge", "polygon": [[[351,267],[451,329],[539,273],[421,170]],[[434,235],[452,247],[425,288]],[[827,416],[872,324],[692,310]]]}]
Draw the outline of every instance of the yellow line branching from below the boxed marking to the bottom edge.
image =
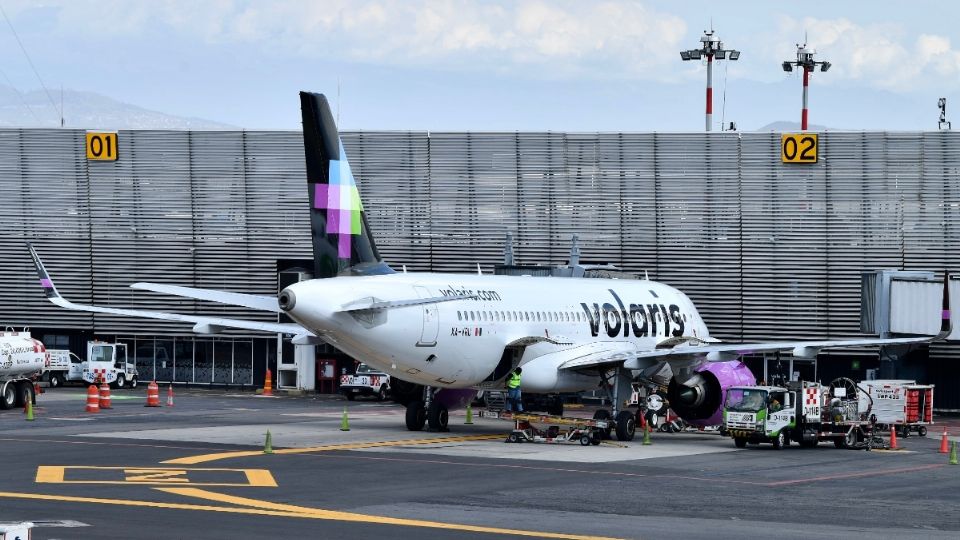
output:
[{"label": "yellow line branching from below the boxed marking to the bottom edge", "polygon": [[247,497],[237,497],[235,495],[225,495],[214,493],[197,488],[157,488],[159,491],[174,493],[186,497],[196,497],[200,499],[233,504],[237,506],[249,506],[262,510],[276,512],[288,512],[291,516],[313,517],[318,519],[328,519],[333,521],[350,521],[355,523],[374,523],[379,525],[399,525],[404,527],[422,527],[429,529],[447,529],[455,531],[478,532],[488,534],[509,534],[514,536],[535,536],[538,538],[563,538],[568,540],[610,540],[602,536],[583,536],[576,534],[551,533],[543,531],[528,531],[522,529],[503,529],[499,527],[483,527],[480,525],[464,525],[458,523],[444,523],[441,521],[426,521],[420,519],[393,518],[387,516],[374,516],[369,514],[357,514],[353,512],[341,512],[336,510],[323,510],[320,508],[309,508],[305,506],[296,506],[292,504],[274,503],[270,501],[261,501],[249,499]]}]

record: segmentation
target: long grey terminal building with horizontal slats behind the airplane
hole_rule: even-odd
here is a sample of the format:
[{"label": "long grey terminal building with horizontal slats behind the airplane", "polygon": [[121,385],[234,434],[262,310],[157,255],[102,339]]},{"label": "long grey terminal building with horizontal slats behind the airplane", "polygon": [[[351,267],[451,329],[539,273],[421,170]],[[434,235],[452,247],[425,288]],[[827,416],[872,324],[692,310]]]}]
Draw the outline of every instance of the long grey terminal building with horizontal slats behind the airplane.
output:
[{"label": "long grey terminal building with horizontal slats behind the airplane", "polygon": [[[686,292],[725,341],[861,335],[863,272],[960,272],[960,139],[826,132],[784,163],[779,133],[342,132],[381,255],[409,271],[515,262],[612,264]],[[275,294],[309,277],[299,132],[120,131],[115,160],[87,134],[0,130],[0,324],[78,354],[120,341],[142,379],[334,391],[353,360],[276,335],[73,312],[47,302],[25,247],[77,303],[270,320],[276,314],[136,290],[160,282]],[[562,278],[558,278],[562,279]],[[956,302],[960,302],[960,298]],[[887,362],[876,349],[748,358],[758,378],[840,375],[937,385],[960,410],[960,349]]]}]

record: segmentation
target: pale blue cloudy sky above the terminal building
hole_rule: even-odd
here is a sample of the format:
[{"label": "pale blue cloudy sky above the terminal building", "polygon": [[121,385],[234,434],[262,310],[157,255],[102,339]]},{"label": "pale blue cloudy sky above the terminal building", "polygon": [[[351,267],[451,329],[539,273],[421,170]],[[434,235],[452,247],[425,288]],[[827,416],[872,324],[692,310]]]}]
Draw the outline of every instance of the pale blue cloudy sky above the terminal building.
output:
[{"label": "pale blue cloudy sky above the terminal building", "polygon": [[935,130],[938,98],[947,98],[948,120],[960,111],[958,2],[0,0],[0,7],[0,85],[23,95],[46,87],[50,98],[31,106],[43,118],[57,117],[63,87],[245,129],[299,129],[297,92],[310,90],[327,94],[349,130],[701,131],[706,66],[681,61],[679,52],[697,47],[711,25],[726,48],[741,51],[739,61],[715,65],[714,129],[798,122],[800,76],[781,64],[805,39],[818,60],[832,63],[811,80],[813,124]]}]

